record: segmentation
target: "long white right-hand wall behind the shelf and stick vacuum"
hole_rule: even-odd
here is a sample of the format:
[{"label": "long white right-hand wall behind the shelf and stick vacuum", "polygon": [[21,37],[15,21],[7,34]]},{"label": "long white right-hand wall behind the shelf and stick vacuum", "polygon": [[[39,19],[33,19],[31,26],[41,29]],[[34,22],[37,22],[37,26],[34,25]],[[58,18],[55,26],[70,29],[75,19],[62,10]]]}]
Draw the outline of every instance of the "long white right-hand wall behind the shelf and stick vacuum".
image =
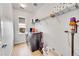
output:
[{"label": "long white right-hand wall behind the shelf and stick vacuum", "polygon": [[[36,13],[35,17],[41,19],[49,15],[50,11],[53,10],[53,4],[45,4]],[[69,30],[68,21],[70,17],[76,17],[79,19],[79,9],[66,13],[62,16],[55,18],[49,18],[45,21],[36,24],[36,27],[43,31],[44,40],[49,47],[55,48],[56,50],[63,53],[63,55],[70,55],[69,42],[71,40],[70,34],[65,33],[65,30]],[[79,55],[79,32],[75,35],[75,55]],[[69,39],[69,40],[68,40]]]}]

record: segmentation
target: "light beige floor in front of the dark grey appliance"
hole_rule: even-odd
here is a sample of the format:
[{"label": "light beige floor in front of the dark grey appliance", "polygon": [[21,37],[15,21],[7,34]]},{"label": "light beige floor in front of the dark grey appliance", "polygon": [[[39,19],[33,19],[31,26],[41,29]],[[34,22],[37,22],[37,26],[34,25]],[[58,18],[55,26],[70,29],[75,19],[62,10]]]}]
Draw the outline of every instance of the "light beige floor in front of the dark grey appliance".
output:
[{"label": "light beige floor in front of the dark grey appliance", "polygon": [[12,56],[42,56],[42,54],[38,50],[31,52],[26,43],[21,43],[14,46]]}]

